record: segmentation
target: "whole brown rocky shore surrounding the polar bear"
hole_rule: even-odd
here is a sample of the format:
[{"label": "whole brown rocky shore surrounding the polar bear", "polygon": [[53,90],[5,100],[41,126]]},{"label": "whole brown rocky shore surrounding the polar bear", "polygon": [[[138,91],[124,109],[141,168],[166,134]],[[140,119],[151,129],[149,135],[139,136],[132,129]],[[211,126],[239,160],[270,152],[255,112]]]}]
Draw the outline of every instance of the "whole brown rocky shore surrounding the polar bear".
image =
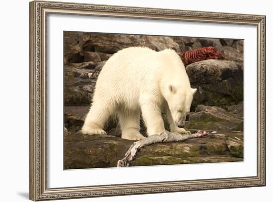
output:
[{"label": "whole brown rocky shore surrounding the polar bear", "polygon": [[[112,54],[131,46],[187,51],[212,46],[224,59],[186,67],[198,91],[187,117],[188,130],[207,130],[203,138],[141,148],[132,166],[243,160],[243,40],[65,32],[65,169],[116,167],[133,141],[120,138],[117,121],[107,136],[78,132],[88,112],[101,68]],[[216,131],[215,133],[211,133]],[[141,132],[145,135],[145,127]]]}]

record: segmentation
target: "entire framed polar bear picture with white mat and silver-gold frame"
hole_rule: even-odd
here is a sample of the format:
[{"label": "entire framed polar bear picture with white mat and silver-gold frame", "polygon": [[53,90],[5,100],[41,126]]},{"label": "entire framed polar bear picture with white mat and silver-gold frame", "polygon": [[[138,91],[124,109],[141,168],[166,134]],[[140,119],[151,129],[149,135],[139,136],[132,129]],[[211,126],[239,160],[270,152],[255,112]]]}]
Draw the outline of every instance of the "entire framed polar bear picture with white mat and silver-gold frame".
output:
[{"label": "entire framed polar bear picture with white mat and silver-gold frame", "polygon": [[265,15],[35,0],[29,28],[31,200],[266,185]]}]

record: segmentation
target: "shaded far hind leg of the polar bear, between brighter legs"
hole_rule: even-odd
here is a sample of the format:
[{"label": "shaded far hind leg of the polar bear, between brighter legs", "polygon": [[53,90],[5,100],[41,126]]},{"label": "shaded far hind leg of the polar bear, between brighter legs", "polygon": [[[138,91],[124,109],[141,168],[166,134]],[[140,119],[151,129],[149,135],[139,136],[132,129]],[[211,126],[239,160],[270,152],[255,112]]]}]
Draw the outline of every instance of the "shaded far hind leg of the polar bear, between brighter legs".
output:
[{"label": "shaded far hind leg of the polar bear, between brighter legs", "polygon": [[139,133],[139,111],[119,112],[119,121],[123,139],[143,140],[144,136]]}]

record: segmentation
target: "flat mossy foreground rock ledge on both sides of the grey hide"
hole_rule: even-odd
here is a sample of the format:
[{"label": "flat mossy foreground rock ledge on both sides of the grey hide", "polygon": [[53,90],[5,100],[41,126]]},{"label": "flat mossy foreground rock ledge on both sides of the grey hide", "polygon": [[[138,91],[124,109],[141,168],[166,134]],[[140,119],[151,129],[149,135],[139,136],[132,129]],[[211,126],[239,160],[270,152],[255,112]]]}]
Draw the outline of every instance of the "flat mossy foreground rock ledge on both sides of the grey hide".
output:
[{"label": "flat mossy foreground rock ledge on both sides of the grey hide", "polygon": [[[236,141],[235,143],[231,143]],[[65,133],[65,169],[116,167],[134,143],[110,135]],[[141,148],[131,166],[243,161],[242,132],[218,132],[184,142]]]}]

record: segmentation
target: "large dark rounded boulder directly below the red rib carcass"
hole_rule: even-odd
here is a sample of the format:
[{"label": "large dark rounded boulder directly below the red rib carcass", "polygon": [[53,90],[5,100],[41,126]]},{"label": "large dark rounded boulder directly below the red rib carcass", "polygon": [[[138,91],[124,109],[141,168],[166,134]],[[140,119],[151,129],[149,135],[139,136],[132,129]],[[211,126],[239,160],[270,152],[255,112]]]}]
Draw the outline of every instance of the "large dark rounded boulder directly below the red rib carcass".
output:
[{"label": "large dark rounded boulder directly below the red rib carcass", "polygon": [[243,63],[208,59],[187,66],[191,86],[197,88],[192,109],[198,104],[227,108],[243,101]]}]

